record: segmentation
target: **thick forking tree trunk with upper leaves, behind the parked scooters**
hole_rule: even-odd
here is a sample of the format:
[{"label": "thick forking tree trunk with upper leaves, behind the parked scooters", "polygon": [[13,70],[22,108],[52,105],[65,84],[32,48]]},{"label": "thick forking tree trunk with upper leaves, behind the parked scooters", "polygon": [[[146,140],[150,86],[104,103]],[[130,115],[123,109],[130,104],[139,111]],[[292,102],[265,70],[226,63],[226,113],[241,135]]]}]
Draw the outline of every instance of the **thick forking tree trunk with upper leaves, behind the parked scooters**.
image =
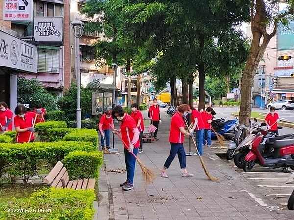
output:
[{"label": "thick forking tree trunk with upper leaves, behind the parked scooters", "polygon": [[[279,12],[281,2],[288,3],[283,12]],[[240,124],[249,126],[253,78],[265,49],[276,35],[278,25],[287,25],[293,20],[293,14],[294,0],[251,0],[252,42],[241,82]]]}]

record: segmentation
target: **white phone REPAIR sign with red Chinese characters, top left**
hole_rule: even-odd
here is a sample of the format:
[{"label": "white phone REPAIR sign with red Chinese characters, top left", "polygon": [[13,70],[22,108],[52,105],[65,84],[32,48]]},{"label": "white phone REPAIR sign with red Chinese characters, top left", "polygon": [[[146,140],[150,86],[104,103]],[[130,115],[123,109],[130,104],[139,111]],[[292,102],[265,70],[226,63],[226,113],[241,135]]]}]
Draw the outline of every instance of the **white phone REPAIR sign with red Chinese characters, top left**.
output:
[{"label": "white phone REPAIR sign with red Chinese characters, top left", "polygon": [[33,0],[4,0],[3,20],[33,21]]}]

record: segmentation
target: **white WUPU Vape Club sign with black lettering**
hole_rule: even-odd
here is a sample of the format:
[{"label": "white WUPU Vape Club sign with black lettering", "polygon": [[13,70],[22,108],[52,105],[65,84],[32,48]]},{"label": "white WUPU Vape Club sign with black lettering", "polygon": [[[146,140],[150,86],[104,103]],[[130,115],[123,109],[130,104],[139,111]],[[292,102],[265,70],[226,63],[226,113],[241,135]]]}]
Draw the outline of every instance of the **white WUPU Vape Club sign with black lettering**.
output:
[{"label": "white WUPU Vape Club sign with black lettering", "polygon": [[49,45],[62,45],[63,25],[61,17],[34,17],[34,38]]}]

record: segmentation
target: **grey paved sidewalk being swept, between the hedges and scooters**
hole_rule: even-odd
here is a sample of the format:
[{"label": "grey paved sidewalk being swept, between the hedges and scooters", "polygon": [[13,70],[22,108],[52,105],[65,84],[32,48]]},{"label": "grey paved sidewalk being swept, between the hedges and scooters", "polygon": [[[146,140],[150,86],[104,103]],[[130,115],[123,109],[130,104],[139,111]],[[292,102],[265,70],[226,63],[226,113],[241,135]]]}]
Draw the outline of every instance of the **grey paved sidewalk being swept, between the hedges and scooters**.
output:
[{"label": "grey paved sidewalk being swept, between the hedges and scooters", "polygon": [[[293,219],[288,210],[280,210],[237,172],[219,159],[216,148],[204,148],[205,164],[211,174],[220,178],[212,182],[205,175],[198,156],[187,156],[187,168],[194,177],[182,177],[176,157],[167,170],[169,178],[159,175],[170,150],[168,142],[170,118],[162,112],[159,141],[145,143],[138,154],[143,163],[156,173],[153,184],[144,188],[141,169],[136,164],[134,190],[123,192],[120,183],[126,174],[124,154],[105,154],[105,169],[100,172],[101,194],[97,220],[275,220]],[[147,116],[147,112],[144,112]],[[189,152],[189,139],[185,149]],[[116,138],[115,147],[123,152]],[[196,151],[191,141],[192,151]],[[114,172],[117,171],[117,172]]]}]

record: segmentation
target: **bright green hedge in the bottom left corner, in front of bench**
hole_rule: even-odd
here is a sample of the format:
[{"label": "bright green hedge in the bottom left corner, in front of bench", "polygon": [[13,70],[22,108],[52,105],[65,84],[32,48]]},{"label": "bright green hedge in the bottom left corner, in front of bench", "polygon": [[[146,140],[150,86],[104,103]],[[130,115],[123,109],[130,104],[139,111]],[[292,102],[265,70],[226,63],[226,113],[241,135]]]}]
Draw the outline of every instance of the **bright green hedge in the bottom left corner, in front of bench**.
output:
[{"label": "bright green hedge in the bottom left corner, in front of bench", "polygon": [[[0,219],[9,220],[92,220],[95,210],[93,189],[44,188],[29,198],[0,202]],[[20,210],[19,212],[17,212]]]}]

